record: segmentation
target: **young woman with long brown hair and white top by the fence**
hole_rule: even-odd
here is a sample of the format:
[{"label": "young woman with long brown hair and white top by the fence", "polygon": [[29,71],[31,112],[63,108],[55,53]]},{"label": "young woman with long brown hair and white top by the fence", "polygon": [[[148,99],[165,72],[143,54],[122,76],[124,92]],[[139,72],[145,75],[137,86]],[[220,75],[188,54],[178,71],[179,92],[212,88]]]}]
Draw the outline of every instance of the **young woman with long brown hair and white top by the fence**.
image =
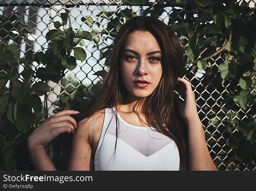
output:
[{"label": "young woman with long brown hair and white top by the fence", "polygon": [[[113,42],[110,67],[80,114],[63,110],[28,139],[37,170],[56,170],[45,151],[73,133],[67,170],[216,170],[184,72],[175,33],[153,17],[133,17]],[[174,90],[184,99],[181,101]],[[78,122],[78,123],[77,123]],[[70,145],[67,142],[68,145]]]}]

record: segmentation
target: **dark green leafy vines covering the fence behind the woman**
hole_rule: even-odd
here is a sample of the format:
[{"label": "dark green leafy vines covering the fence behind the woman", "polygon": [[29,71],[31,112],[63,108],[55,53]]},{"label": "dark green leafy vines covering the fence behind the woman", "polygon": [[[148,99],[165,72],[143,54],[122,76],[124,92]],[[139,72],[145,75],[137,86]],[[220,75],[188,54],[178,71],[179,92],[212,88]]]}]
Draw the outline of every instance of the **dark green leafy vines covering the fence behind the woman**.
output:
[{"label": "dark green leafy vines covering the fence behind the woman", "polygon": [[[59,14],[61,21],[54,22],[55,29],[47,30],[47,48],[27,51],[22,58],[21,44],[29,42],[33,29],[19,17],[18,11],[1,15],[1,170],[35,169],[27,149],[29,134],[49,114],[63,109],[79,110],[100,83],[92,81],[91,85],[84,85],[76,80],[76,75],[68,76],[66,71],[74,71],[77,63],[91,64],[86,52],[88,44],[93,43],[91,51],[99,50],[95,58],[97,64],[103,62],[102,69],[93,74],[102,79],[111,51],[107,41],[115,38],[125,20],[136,15],[156,18],[167,15],[166,24],[177,33],[186,49],[187,71],[180,77],[191,82],[207,146],[218,170],[255,170],[256,16],[255,6],[248,5],[256,3],[212,0],[125,0],[120,3],[108,5],[109,11],[104,9],[97,15],[80,14],[83,23],[80,28],[73,28],[70,19],[77,7],[66,3],[66,12]],[[139,11],[135,12],[135,7],[139,7]],[[88,30],[81,30],[82,26]],[[31,67],[32,64],[36,67]],[[19,71],[21,65],[24,69]],[[84,75],[87,77],[88,71]],[[50,82],[61,86],[60,94],[51,103],[55,108],[52,113],[47,105],[49,94],[54,92]],[[65,163],[59,163],[58,157],[62,136],[47,147],[57,169],[65,169]]]}]

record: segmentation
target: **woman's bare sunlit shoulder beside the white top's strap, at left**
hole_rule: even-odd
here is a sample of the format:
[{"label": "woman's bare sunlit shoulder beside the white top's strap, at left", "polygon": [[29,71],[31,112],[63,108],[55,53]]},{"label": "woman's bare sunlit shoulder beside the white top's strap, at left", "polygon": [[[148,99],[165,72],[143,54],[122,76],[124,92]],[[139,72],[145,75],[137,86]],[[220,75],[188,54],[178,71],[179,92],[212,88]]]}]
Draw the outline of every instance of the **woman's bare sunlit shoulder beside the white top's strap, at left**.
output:
[{"label": "woman's bare sunlit shoulder beside the white top's strap, at left", "polygon": [[93,115],[82,119],[77,124],[77,131],[82,135],[86,135],[90,144],[93,140],[93,135],[97,132],[101,132],[104,122],[105,109],[98,110]]}]

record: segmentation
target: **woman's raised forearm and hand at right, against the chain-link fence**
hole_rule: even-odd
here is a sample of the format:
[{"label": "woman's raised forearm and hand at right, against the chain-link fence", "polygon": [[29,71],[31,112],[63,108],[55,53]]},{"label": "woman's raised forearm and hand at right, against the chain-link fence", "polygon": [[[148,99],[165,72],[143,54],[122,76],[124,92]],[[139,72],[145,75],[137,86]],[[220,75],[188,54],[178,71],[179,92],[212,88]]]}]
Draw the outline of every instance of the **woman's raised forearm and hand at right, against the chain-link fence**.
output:
[{"label": "woman's raised forearm and hand at right, against the chain-link fence", "polygon": [[188,127],[189,139],[189,170],[217,170],[208,151],[205,133],[195,104],[195,93],[189,81],[183,78],[177,79],[177,92],[184,101],[175,94],[174,99],[178,103],[179,113]]}]

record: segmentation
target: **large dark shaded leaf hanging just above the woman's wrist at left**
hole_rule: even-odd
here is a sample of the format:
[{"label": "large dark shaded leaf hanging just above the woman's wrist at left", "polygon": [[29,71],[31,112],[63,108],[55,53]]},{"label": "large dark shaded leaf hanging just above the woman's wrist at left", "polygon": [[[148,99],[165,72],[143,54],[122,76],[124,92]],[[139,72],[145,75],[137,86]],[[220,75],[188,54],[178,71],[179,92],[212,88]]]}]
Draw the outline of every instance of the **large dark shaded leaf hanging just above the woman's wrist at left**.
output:
[{"label": "large dark shaded leaf hanging just above the woman's wrist at left", "polygon": [[21,107],[17,108],[17,114],[15,126],[19,131],[26,133],[30,130],[33,122],[32,108],[27,104],[23,104]]}]

